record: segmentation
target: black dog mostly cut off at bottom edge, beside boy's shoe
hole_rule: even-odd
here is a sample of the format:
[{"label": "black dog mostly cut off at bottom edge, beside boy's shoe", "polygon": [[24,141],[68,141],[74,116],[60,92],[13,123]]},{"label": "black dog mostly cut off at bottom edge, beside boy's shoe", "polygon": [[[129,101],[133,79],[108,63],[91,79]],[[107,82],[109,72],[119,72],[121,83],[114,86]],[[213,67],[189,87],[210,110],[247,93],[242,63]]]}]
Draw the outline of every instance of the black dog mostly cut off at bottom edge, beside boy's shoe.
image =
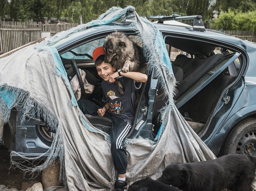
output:
[{"label": "black dog mostly cut off at bottom edge, beside boy's shoe", "polygon": [[168,186],[164,183],[146,178],[138,180],[129,186],[128,191],[182,191],[173,186]]}]

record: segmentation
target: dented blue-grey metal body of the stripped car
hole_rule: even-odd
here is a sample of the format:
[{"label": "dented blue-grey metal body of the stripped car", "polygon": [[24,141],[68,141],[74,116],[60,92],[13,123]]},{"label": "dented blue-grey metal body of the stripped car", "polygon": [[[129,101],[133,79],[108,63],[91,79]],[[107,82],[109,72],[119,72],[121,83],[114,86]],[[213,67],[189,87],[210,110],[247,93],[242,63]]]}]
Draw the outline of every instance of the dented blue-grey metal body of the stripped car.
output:
[{"label": "dented blue-grey metal body of the stripped car", "polygon": [[[234,132],[233,129],[237,128],[244,120],[256,119],[256,44],[215,30],[206,29],[206,31],[196,31],[192,27],[167,24],[157,24],[157,27],[163,35],[167,48],[169,47],[168,52],[170,55],[172,53],[171,47],[182,51],[181,54],[187,57],[184,59],[190,58],[193,61],[200,60],[203,62],[211,56],[216,55],[213,53],[215,50],[220,50],[221,53],[219,54],[224,55],[224,52],[227,54],[225,56],[222,55],[221,61],[217,61],[217,64],[214,65],[217,66],[218,62],[222,62],[221,66],[217,66],[215,69],[211,68],[204,72],[189,88],[175,97],[175,104],[189,124],[194,125],[195,129],[199,129],[197,132],[198,136],[216,156],[227,154],[228,152],[256,155],[256,152],[254,152],[254,143],[256,143],[256,127],[254,128],[254,123],[252,123],[253,127],[250,127],[249,130],[247,129],[246,132],[242,134],[237,132],[237,141],[233,140],[234,138],[232,139],[234,141],[233,144],[236,145],[235,150],[225,150],[226,144],[230,143],[230,134],[232,134],[232,131]],[[129,25],[113,23],[91,27],[74,35],[67,36],[59,42],[52,43],[51,46],[58,50],[65,68],[68,69],[71,66],[71,58],[63,58],[64,56],[62,55],[86,43],[102,39],[114,31],[122,31],[131,36],[136,35]],[[86,68],[93,73],[94,65],[91,58],[74,59],[77,62],[78,68]],[[172,58],[171,61],[175,63],[175,60],[172,60]],[[230,77],[230,71],[227,71],[230,65],[234,65],[237,70],[233,77]],[[212,72],[213,70],[215,72]],[[93,74],[96,75],[96,72]],[[206,88],[212,90],[209,84],[212,84],[214,79],[216,80],[226,75],[228,75],[228,78],[232,78],[232,80],[220,90],[216,87],[218,96],[215,100],[209,98],[212,102],[212,107],[205,110],[206,113],[209,113],[208,117],[206,116],[207,119],[203,121],[193,119],[191,117],[194,115],[191,105],[194,104],[199,107],[199,109],[195,110],[195,113],[199,113],[197,117],[199,116],[200,118],[200,99],[203,100],[202,102],[206,102],[206,104],[202,104],[203,106],[207,105],[207,99],[204,99],[208,96],[208,90]],[[159,121],[155,121],[154,124],[152,122],[154,112],[157,113],[157,111],[154,111],[154,108],[156,107],[155,103],[160,94],[160,87],[158,76],[154,71],[149,71],[148,76],[151,80],[145,87],[145,92],[149,93],[145,98],[141,98],[141,105],[135,116],[137,122],[128,137],[142,136],[154,141],[157,131],[161,127]],[[179,84],[177,85],[177,89],[179,91]],[[200,93],[203,96],[200,97]],[[10,120],[5,125],[5,145],[10,151],[15,151],[27,157],[39,156],[49,149],[51,137],[45,136],[46,132],[43,132],[40,128],[40,120],[35,123],[35,120],[37,120],[35,118],[34,121],[27,120],[25,123],[20,124],[19,117],[21,116],[22,112],[19,108],[12,111]],[[143,124],[139,121],[143,121]],[[245,140],[244,142],[241,141],[246,134],[249,138],[243,139]],[[14,160],[20,160],[20,157],[13,152],[12,158]]]}]

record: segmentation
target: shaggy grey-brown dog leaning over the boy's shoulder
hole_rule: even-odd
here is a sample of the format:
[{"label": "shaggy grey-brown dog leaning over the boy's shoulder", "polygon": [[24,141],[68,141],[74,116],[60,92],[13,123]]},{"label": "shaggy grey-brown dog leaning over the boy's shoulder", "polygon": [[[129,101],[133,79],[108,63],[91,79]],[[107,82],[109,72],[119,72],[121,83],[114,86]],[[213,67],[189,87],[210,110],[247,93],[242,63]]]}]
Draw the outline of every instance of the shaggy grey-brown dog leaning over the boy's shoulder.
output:
[{"label": "shaggy grey-brown dog leaning over the boy's shoulder", "polygon": [[[133,42],[123,32],[112,32],[107,35],[103,44],[105,50],[104,62],[110,63],[122,72],[146,72],[146,59],[140,46]],[[123,95],[121,82],[117,82],[117,89]]]}]

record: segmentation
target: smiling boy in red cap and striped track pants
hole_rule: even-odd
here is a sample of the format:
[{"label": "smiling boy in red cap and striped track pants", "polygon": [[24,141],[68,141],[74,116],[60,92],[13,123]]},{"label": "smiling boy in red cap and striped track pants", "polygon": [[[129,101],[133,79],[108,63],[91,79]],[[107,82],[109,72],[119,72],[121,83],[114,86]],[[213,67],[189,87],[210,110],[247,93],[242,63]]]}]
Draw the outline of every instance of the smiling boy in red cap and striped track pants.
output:
[{"label": "smiling boy in red cap and striped track pants", "polygon": [[[106,104],[103,107],[99,107],[88,100],[79,100],[77,103],[83,114],[98,115],[112,120],[110,139],[112,160],[118,173],[116,191],[124,191],[127,188],[125,181],[127,154],[124,139],[132,126],[135,115],[134,91],[139,89],[142,82],[146,82],[148,77],[140,72],[124,73],[120,70],[116,72],[116,67],[104,62],[105,51],[102,46],[96,48],[92,56],[98,75],[103,79],[101,83],[103,90],[102,101]],[[118,92],[115,83],[115,77],[121,75],[125,76],[122,82],[125,90],[124,95]]]}]

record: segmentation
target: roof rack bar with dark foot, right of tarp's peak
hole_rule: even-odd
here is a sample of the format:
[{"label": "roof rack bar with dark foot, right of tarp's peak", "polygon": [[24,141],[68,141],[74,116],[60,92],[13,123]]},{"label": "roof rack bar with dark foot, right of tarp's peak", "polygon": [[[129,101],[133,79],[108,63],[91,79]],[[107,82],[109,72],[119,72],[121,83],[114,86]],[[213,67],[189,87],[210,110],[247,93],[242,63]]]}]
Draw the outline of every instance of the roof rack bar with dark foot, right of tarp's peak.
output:
[{"label": "roof rack bar with dark foot, right of tarp's peak", "polygon": [[202,21],[202,16],[201,15],[192,15],[192,16],[184,16],[182,17],[181,14],[172,14],[170,16],[165,16],[165,15],[158,15],[158,16],[150,16],[147,18],[148,20],[158,20],[158,23],[164,23],[164,21],[171,21],[171,20],[194,20],[193,23],[193,30],[198,30],[198,31],[205,31],[203,21]]}]

